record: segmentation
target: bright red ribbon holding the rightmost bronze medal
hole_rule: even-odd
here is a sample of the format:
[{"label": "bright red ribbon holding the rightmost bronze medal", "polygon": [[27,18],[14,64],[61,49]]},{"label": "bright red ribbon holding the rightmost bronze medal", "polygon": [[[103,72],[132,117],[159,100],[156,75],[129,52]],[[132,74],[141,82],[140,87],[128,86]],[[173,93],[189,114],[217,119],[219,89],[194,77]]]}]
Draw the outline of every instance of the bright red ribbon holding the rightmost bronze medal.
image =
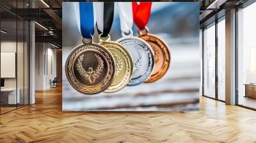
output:
[{"label": "bright red ribbon holding the rightmost bronze medal", "polygon": [[132,2],[133,21],[140,30],[144,30],[150,17],[152,2]]}]

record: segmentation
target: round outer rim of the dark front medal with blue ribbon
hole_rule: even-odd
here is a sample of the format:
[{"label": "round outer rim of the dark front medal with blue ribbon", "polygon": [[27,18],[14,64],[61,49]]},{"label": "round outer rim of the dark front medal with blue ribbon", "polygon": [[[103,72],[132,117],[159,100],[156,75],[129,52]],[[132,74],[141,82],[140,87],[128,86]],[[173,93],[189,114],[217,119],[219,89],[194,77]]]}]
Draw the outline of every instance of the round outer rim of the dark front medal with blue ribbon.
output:
[{"label": "round outer rim of the dark front medal with blue ribbon", "polygon": [[[76,86],[74,86],[74,84],[72,83],[72,81],[70,80],[70,77],[68,76],[68,59],[70,59],[70,56],[72,56],[72,54],[76,51],[76,50],[78,50],[79,48],[81,48],[81,47],[84,47],[84,46],[86,46],[86,45],[95,45],[95,47],[99,47],[100,49],[104,49],[105,50],[105,52],[107,53],[107,54],[109,54],[109,58],[111,59],[111,61],[112,61],[112,67],[113,67],[113,73],[111,74],[111,77],[110,77],[110,80],[109,80],[109,83],[108,84],[106,84],[106,86],[104,87],[104,88],[102,88],[102,89],[100,89],[100,90],[97,90],[97,91],[95,91],[95,92],[83,92],[83,91],[80,91]],[[105,58],[105,57],[104,57]],[[109,64],[109,62],[108,62],[108,60],[106,60],[107,62],[106,63],[108,63]],[[110,64],[109,64],[110,65]],[[73,65],[74,66],[74,65]],[[72,69],[73,70],[73,69]],[[108,69],[108,71],[109,71],[109,69]],[[74,73],[74,72],[73,72]],[[116,71],[115,71],[115,60],[113,59],[113,55],[111,54],[111,52],[108,50],[108,49],[106,49],[106,47],[104,47],[104,46],[102,46],[102,45],[99,45],[99,44],[97,44],[97,43],[81,43],[80,45],[77,45],[74,49],[72,49],[71,50],[71,52],[70,52],[70,54],[68,55],[68,57],[67,57],[67,59],[66,59],[66,63],[65,63],[65,74],[66,74],[66,77],[67,77],[67,80],[68,80],[68,82],[70,83],[70,85],[74,88],[74,89],[76,89],[76,91],[78,91],[79,93],[82,93],[82,94],[97,94],[97,93],[101,93],[102,91],[104,91],[104,90],[106,90],[111,84],[112,84],[112,82],[113,82],[113,79],[114,79],[114,76],[115,76],[115,73],[116,73]],[[106,80],[106,77],[104,77],[104,80]],[[104,80],[102,80],[102,81],[104,81]],[[79,81],[77,81],[77,82],[79,82]],[[102,83],[102,82],[100,82],[100,83]],[[98,84],[97,84],[98,85]],[[93,87],[93,86],[88,86],[88,87]]]}]

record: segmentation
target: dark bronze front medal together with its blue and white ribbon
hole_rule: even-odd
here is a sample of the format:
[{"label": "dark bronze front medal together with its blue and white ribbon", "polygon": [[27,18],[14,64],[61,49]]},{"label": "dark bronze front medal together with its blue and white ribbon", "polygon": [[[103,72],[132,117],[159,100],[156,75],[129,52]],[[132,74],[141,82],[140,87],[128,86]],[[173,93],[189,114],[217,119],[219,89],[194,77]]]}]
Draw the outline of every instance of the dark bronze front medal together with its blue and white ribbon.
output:
[{"label": "dark bronze front medal together with its blue and white ribbon", "polygon": [[93,3],[82,2],[75,6],[83,44],[74,48],[68,56],[65,67],[67,79],[74,89],[81,93],[100,93],[113,82],[115,61],[108,49],[93,43]]}]

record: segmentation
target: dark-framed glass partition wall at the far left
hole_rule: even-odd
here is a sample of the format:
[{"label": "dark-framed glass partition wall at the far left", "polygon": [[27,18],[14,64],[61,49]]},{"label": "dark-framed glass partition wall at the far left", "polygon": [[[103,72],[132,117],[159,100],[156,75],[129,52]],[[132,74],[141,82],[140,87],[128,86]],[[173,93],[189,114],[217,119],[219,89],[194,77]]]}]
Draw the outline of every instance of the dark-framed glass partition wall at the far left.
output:
[{"label": "dark-framed glass partition wall at the far left", "polygon": [[10,4],[15,9],[0,7],[0,114],[29,104],[29,22],[13,13],[29,5],[28,1]]}]

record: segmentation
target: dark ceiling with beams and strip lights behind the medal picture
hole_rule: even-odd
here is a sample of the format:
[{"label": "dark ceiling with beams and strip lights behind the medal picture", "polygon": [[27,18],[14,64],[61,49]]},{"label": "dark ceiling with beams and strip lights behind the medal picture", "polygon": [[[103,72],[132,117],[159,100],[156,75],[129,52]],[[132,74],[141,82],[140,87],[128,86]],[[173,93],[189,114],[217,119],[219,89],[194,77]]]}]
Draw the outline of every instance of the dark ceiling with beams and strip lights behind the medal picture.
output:
[{"label": "dark ceiling with beams and strip lights behind the medal picture", "polygon": [[[4,27],[9,26],[10,31],[16,28],[13,20],[35,20],[36,41],[56,43],[61,47],[61,3],[67,1],[72,0],[1,0],[1,20],[4,21],[2,22]],[[200,2],[200,25],[204,25],[219,11],[243,4],[248,0],[195,1]],[[17,33],[20,33],[19,29]]]}]

